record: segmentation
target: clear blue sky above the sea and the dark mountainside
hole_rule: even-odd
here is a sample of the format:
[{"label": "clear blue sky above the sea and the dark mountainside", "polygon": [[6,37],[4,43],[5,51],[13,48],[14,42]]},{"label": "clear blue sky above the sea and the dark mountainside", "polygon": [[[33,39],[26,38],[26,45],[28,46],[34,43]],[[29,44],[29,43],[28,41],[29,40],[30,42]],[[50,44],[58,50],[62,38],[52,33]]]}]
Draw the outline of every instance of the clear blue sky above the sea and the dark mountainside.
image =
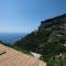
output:
[{"label": "clear blue sky above the sea and the dark mountainside", "polygon": [[63,13],[66,0],[0,0],[0,32],[29,33]]}]

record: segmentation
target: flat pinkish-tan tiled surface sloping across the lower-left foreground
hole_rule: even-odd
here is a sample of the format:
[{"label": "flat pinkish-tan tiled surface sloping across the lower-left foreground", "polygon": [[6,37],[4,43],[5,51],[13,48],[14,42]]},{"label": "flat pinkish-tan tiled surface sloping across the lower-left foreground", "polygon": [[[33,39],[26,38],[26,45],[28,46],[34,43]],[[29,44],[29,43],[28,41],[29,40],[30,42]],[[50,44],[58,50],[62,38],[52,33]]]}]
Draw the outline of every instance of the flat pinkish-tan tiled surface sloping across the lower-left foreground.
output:
[{"label": "flat pinkish-tan tiled surface sloping across the lower-left foreground", "polygon": [[0,55],[0,66],[46,66],[44,62],[2,44],[0,44],[0,51],[7,52]]}]

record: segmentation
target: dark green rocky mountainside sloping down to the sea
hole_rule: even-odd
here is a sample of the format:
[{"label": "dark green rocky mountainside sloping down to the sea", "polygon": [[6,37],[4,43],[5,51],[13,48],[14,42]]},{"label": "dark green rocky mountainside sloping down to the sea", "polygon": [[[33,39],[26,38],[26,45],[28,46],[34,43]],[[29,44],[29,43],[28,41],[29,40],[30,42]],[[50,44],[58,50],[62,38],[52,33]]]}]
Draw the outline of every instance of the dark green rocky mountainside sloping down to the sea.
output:
[{"label": "dark green rocky mountainside sloping down to the sea", "polygon": [[28,34],[14,45],[42,55],[54,55],[65,50],[66,14],[41,22],[37,31]]}]

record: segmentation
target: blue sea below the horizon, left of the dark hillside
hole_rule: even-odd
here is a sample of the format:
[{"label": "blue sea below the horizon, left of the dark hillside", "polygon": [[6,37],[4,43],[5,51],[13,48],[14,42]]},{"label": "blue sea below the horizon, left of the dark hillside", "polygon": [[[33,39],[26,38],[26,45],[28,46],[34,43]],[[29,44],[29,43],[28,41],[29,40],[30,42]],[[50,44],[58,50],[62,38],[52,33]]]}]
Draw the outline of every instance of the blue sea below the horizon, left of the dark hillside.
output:
[{"label": "blue sea below the horizon, left of the dark hillside", "polygon": [[26,33],[0,33],[0,41],[6,44],[14,44],[16,41],[20,41],[24,37]]}]

